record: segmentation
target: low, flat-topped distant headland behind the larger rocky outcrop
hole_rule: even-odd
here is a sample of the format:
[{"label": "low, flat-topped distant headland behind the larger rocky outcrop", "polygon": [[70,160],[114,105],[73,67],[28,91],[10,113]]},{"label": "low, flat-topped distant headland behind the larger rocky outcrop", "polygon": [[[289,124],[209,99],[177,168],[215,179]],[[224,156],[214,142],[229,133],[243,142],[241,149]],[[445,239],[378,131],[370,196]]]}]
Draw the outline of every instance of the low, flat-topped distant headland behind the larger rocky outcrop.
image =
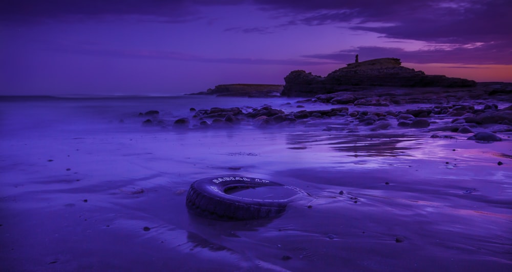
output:
[{"label": "low, flat-topped distant headland behind the larger rocky outcrop", "polygon": [[248,97],[272,97],[280,96],[283,85],[272,84],[223,84],[205,92],[193,94],[206,94],[216,96],[248,96]]}]

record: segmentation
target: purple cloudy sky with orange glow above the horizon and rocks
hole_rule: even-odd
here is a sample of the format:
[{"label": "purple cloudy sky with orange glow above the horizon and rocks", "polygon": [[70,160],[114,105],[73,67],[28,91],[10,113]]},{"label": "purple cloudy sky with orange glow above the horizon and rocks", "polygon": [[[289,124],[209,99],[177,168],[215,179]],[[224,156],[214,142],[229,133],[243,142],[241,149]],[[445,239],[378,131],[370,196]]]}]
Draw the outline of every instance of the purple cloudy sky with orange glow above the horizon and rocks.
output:
[{"label": "purple cloudy sky with orange glow above the horizon and rocks", "polygon": [[3,0],[0,94],[180,94],[396,57],[512,82],[512,1]]}]

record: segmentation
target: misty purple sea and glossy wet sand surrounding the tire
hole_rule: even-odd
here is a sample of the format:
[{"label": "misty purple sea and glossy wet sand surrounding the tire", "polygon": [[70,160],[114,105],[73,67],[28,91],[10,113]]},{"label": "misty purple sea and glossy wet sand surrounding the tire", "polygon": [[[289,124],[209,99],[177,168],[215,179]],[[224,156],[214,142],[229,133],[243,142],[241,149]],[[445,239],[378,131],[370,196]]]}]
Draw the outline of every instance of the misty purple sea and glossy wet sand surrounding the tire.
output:
[{"label": "misty purple sea and glossy wet sand surrounding the tire", "polygon": [[[191,107],[333,107],[294,98],[1,99],[2,270],[512,268],[510,132],[478,143],[467,134],[431,138],[430,130],[397,126],[324,131],[341,119],[267,129],[172,127],[191,118]],[[167,123],[142,126],[146,117],[138,115],[149,110]],[[268,219],[189,214],[190,184],[216,175],[260,177],[311,196]],[[289,192],[230,193],[271,199]]]}]

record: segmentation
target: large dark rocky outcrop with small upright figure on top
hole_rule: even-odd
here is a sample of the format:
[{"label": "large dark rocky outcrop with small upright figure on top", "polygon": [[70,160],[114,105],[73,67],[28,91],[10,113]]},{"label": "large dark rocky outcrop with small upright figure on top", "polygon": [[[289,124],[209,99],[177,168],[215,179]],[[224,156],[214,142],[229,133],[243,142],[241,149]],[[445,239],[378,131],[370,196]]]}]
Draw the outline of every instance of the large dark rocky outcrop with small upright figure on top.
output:
[{"label": "large dark rocky outcrop with small upright figure on top", "polygon": [[304,70],[291,71],[285,77],[282,95],[311,97],[318,94],[357,90],[354,86],[390,87],[473,87],[472,80],[426,75],[423,71],[401,66],[396,58],[373,59],[350,63],[327,77]]}]

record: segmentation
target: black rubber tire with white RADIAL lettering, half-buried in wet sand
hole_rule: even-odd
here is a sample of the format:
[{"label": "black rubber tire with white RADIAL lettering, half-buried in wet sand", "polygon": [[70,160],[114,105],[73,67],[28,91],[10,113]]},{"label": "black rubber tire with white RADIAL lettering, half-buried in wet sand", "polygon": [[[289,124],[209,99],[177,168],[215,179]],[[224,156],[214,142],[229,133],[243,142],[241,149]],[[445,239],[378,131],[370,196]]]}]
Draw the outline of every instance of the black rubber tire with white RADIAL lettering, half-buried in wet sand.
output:
[{"label": "black rubber tire with white RADIAL lettering, half-buried in wet sand", "polygon": [[[263,200],[227,194],[228,190],[279,186],[291,189],[292,196],[279,200]],[[218,220],[252,220],[281,214],[286,205],[307,192],[263,179],[244,176],[217,176],[195,181],[190,185],[186,197],[189,211],[200,216]]]}]

